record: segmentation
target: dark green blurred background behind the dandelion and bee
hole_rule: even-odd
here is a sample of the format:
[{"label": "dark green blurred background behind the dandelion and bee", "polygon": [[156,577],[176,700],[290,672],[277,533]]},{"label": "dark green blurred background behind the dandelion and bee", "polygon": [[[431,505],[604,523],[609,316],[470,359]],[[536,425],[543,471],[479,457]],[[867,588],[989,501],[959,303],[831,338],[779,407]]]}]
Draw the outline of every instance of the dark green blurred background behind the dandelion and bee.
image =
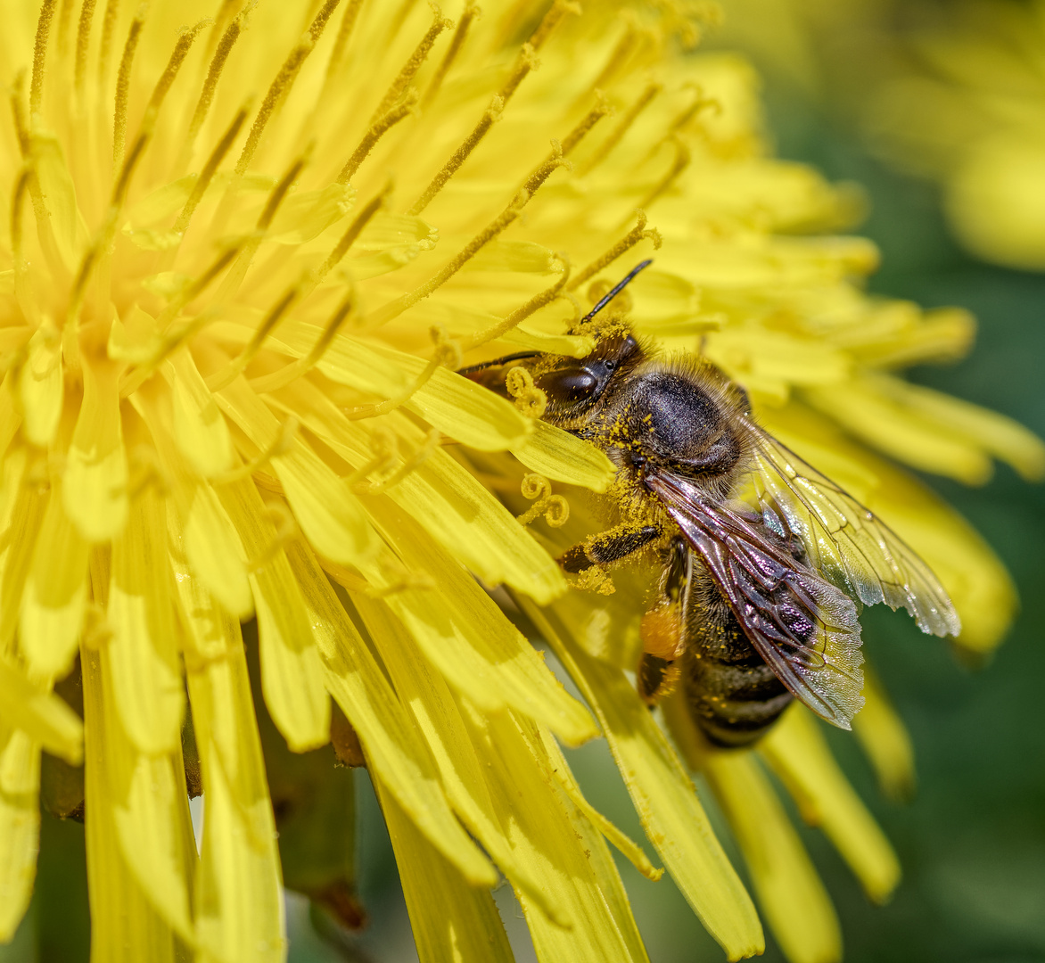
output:
[{"label": "dark green blurred background behind the dandelion and bee", "polygon": [[[860,233],[883,255],[870,289],[926,307],[961,305],[979,319],[968,359],[914,370],[911,379],[1003,412],[1045,436],[1045,277],[970,259],[947,234],[936,189],[881,166],[843,117],[829,118],[779,85],[767,85],[767,99],[780,156],[866,188],[872,211]],[[1045,961],[1045,489],[1022,483],[1006,467],[981,489],[927,480],[1001,556],[1023,611],[978,672],[961,667],[944,643],[922,636],[902,615],[865,613],[870,656],[915,745],[916,797],[907,805],[885,802],[854,741],[828,734],[899,850],[905,876],[891,902],[872,907],[822,837],[805,827],[803,836],[836,901],[850,963]],[[593,803],[642,839],[604,745],[571,753],[571,762]],[[355,779],[358,883],[370,924],[357,937],[340,938],[304,898],[292,895],[293,963],[416,960],[376,802],[366,774],[357,771]],[[45,817],[38,896],[15,943],[0,947],[0,963],[87,960],[83,847],[79,824]],[[622,873],[654,963],[722,959],[667,876],[651,884],[626,864]],[[497,901],[517,959],[532,960],[507,887]],[[771,938],[765,959],[783,959]]]}]

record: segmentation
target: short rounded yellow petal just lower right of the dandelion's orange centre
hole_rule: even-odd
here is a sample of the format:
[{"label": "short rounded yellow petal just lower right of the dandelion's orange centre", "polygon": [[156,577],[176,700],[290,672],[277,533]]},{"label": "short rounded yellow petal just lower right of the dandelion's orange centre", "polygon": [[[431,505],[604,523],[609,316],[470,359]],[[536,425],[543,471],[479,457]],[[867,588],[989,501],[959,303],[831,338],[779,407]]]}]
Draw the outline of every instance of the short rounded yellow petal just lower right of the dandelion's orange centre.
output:
[{"label": "short rounded yellow petal just lower right of the dandelion's orange centre", "polygon": [[163,373],[170,383],[178,450],[204,478],[227,471],[232,466],[229,426],[192,355],[187,350],[175,352]]}]

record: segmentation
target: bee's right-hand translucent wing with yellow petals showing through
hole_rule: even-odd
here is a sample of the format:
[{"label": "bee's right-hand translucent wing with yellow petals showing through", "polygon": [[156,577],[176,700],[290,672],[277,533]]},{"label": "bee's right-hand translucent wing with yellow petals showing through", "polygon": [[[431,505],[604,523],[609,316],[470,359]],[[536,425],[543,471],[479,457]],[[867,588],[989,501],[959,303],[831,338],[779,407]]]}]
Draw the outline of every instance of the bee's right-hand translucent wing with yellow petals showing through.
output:
[{"label": "bee's right-hand translucent wing with yellow petals showing through", "polygon": [[905,608],[923,632],[961,631],[947,590],[900,536],[767,431],[746,425],[754,442],[751,475],[760,509],[769,524],[783,515],[813,568],[864,605]]}]

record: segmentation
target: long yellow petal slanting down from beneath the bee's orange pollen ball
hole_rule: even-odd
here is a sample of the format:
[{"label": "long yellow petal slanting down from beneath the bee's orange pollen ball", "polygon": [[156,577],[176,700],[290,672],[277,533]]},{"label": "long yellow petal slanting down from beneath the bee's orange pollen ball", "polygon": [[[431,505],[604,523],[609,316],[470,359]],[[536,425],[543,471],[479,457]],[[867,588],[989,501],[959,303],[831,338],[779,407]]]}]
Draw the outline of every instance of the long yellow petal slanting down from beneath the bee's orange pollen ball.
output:
[{"label": "long yellow petal slanting down from beneath the bee's orange pollen ball", "polygon": [[574,643],[553,614],[525,598],[519,603],[598,715],[646,835],[707,932],[730,960],[762,953],[762,926],[750,897],[634,686],[620,668]]}]

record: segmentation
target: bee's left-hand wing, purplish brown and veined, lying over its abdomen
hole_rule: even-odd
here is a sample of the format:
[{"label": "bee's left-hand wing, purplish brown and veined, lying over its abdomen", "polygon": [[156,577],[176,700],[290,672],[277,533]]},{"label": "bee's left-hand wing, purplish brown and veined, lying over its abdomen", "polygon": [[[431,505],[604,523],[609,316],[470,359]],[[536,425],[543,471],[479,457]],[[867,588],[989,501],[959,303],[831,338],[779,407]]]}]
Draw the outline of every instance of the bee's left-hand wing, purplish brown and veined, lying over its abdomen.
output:
[{"label": "bee's left-hand wing, purplish brown and veined, lying over its abdomen", "polygon": [[686,478],[646,479],[700,556],[759,655],[791,692],[842,729],[863,706],[856,606],[793,558],[764,523],[707,501]]}]

